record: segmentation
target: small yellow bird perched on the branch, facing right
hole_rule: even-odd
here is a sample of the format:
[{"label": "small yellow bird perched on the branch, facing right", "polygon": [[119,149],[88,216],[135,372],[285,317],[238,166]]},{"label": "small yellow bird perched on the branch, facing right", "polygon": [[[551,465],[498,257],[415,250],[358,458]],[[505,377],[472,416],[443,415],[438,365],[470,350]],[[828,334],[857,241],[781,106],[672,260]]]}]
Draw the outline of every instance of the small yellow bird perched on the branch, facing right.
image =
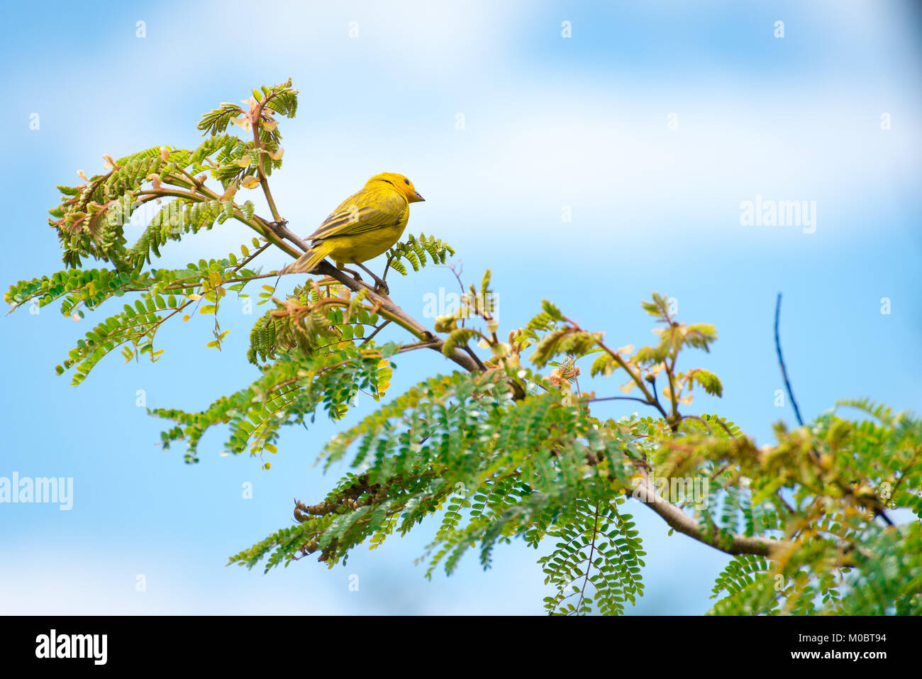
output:
[{"label": "small yellow bird perched on the branch, facing right", "polygon": [[383,287],[384,280],[362,266],[400,240],[409,220],[409,204],[423,200],[407,177],[397,173],[375,174],[361,190],[339,204],[315,232],[307,237],[311,249],[283,269],[285,273],[310,272],[327,256],[337,268],[357,264]]}]

